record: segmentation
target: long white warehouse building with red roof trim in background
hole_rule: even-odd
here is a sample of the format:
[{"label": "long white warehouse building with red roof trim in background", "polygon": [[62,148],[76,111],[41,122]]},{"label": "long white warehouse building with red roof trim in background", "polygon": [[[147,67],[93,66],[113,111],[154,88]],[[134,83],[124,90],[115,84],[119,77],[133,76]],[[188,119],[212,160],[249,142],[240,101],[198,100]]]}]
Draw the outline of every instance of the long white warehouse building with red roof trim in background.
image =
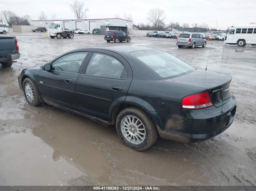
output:
[{"label": "long white warehouse building with red roof trim in background", "polygon": [[107,19],[69,19],[69,20],[32,20],[31,24],[37,27],[49,28],[54,21],[61,21],[63,28],[73,29],[87,29],[92,33],[92,30],[99,28],[101,34],[105,34],[107,30],[122,30],[126,33],[132,33],[132,21],[120,18]]}]

